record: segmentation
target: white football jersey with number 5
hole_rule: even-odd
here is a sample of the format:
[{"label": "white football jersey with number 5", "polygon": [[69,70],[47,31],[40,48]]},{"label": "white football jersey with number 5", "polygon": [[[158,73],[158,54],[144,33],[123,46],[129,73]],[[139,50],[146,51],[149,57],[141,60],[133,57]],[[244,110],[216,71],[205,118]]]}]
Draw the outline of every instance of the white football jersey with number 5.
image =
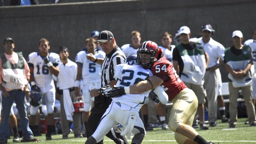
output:
[{"label": "white football jersey with number 5", "polygon": [[[101,76],[101,65],[93,63],[86,58],[87,51],[82,50],[76,55],[76,63],[82,64],[82,80],[84,85],[86,82],[98,82]],[[96,58],[105,58],[106,54],[101,50],[96,50],[94,56]]]}]

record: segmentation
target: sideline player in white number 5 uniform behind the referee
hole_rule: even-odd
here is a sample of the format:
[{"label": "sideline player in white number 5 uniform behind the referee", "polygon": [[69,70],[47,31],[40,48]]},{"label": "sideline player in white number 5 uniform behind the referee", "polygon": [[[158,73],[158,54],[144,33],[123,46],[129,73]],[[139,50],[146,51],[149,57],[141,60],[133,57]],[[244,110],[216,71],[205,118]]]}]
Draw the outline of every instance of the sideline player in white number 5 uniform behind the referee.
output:
[{"label": "sideline player in white number 5 uniform behind the referee", "polygon": [[80,96],[79,84],[82,78],[83,87],[82,89],[82,97],[84,100],[84,117],[83,121],[86,123],[88,121],[90,115],[91,105],[94,102],[94,97],[90,97],[91,89],[99,89],[101,87],[101,65],[91,62],[86,59],[87,54],[92,54],[96,58],[105,58],[105,53],[101,50],[95,49],[96,44],[94,43],[95,39],[87,38],[85,41],[86,49],[80,51],[76,55],[76,64],[78,65],[78,73],[76,75],[76,86],[75,86],[75,94],[76,96]]}]

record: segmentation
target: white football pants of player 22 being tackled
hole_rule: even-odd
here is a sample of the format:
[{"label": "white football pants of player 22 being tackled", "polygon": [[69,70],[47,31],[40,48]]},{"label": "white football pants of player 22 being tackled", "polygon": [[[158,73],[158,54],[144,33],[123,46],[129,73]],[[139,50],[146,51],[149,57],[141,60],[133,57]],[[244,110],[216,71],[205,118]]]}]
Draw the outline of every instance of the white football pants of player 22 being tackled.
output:
[{"label": "white football pants of player 22 being tackled", "polygon": [[[98,143],[104,138],[104,136],[110,130],[114,135],[114,131],[112,128],[116,126],[118,123],[122,124],[123,127],[126,127],[128,124],[129,117],[130,117],[130,111],[121,110],[121,106],[117,105],[116,102],[112,101],[112,103],[110,104],[106,112],[103,114],[96,131],[94,132],[94,134],[92,134],[92,137],[94,137]],[[146,134],[143,122],[139,117],[139,112],[137,113],[137,119],[134,124],[132,133]]]}]

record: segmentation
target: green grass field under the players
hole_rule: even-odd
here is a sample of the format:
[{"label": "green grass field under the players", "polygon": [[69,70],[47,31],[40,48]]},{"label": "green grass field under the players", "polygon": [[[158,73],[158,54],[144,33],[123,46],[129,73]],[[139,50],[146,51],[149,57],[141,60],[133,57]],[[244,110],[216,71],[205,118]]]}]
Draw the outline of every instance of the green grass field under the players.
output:
[{"label": "green grass field under the players", "polygon": [[[246,118],[238,119],[236,128],[230,129],[228,123],[219,123],[217,127],[210,127],[209,130],[200,130],[197,132],[202,135],[206,140],[221,144],[253,144],[256,143],[256,127],[245,125]],[[38,143],[41,144],[84,144],[86,138],[74,138],[73,134],[69,135],[69,139],[62,139],[62,135],[53,135],[53,140],[46,141],[45,135],[37,137]],[[12,139],[8,140],[9,143]],[[130,143],[131,141],[128,140]],[[105,137],[105,144],[114,144],[114,142]],[[153,131],[147,131],[143,144],[176,144],[174,139],[174,132],[172,130],[161,130],[161,128],[154,128]],[[26,144],[26,143],[23,143]],[[31,143],[27,143],[31,144]]]}]

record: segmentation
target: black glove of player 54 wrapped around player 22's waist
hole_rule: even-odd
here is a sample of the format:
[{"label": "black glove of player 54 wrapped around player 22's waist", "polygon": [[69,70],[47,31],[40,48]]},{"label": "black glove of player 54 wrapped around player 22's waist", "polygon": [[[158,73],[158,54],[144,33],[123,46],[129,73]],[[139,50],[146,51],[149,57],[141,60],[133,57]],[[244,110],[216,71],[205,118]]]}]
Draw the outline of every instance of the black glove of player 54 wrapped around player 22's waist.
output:
[{"label": "black glove of player 54 wrapped around player 22's waist", "polygon": [[123,87],[112,87],[110,85],[103,86],[98,93],[106,97],[119,97],[126,94]]}]

